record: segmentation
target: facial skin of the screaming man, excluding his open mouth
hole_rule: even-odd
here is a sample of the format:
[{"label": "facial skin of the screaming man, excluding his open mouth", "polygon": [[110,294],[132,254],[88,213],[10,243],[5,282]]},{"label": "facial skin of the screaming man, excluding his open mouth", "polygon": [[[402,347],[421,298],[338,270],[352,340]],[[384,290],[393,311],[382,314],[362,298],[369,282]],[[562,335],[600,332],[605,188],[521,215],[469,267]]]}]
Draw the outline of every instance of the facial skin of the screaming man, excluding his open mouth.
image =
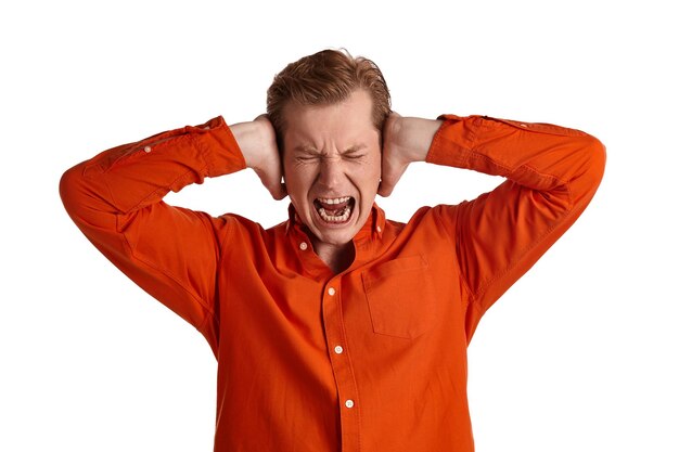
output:
[{"label": "facial skin of the screaming man, excluding his open mouth", "polygon": [[[287,105],[283,168],[287,194],[313,234],[319,256],[346,250],[370,216],[381,176],[380,132],[372,124],[372,100],[362,90],[345,102]],[[351,196],[346,222],[324,221],[317,198]]]}]

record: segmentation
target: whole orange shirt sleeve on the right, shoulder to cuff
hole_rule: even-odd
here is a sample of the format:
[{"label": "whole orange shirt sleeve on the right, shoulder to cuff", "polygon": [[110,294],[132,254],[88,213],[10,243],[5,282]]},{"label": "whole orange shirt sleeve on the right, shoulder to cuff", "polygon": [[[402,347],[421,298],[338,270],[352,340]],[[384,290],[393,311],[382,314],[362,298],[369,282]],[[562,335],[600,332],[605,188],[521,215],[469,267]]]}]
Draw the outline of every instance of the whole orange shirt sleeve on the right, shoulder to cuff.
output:
[{"label": "whole orange shirt sleeve on the right, shoulder to cuff", "polygon": [[579,130],[444,115],[427,162],[507,180],[459,206],[438,206],[470,292],[466,332],[574,223],[603,177],[605,147]]}]

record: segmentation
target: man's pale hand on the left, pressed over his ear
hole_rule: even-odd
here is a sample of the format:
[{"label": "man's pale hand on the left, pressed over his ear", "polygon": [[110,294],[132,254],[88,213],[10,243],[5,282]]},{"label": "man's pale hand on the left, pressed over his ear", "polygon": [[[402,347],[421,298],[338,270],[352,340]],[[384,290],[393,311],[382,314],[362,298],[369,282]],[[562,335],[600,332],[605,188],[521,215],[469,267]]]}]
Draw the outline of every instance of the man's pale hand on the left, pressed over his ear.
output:
[{"label": "man's pale hand on the left, pressed over his ear", "polygon": [[287,196],[282,183],[283,166],[276,143],[276,131],[267,115],[253,121],[229,126],[245,158],[245,165],[255,170],[264,186],[274,199]]}]

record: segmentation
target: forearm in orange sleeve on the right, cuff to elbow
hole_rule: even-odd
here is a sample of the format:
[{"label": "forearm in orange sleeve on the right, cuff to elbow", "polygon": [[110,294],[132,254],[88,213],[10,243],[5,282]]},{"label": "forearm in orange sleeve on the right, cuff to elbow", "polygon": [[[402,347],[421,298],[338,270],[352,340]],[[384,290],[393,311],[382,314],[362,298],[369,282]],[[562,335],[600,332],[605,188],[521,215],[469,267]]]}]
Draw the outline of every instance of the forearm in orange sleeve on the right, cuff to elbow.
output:
[{"label": "forearm in orange sleeve on the right, cuff to elbow", "polygon": [[591,197],[601,181],[605,148],[579,130],[481,116],[443,118],[426,162],[501,176],[531,190],[567,189],[575,197]]}]

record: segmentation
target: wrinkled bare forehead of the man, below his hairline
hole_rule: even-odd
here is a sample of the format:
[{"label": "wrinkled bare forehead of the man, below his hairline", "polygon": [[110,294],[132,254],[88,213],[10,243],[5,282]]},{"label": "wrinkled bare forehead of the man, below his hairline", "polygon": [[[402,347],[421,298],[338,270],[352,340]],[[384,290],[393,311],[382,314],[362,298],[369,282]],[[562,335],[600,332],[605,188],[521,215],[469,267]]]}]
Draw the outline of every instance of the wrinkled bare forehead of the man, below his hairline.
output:
[{"label": "wrinkled bare forehead of the man, below his hairline", "polygon": [[283,109],[285,147],[319,145],[379,137],[372,121],[372,100],[366,91],[355,91],[347,100],[330,105],[289,104]]}]

